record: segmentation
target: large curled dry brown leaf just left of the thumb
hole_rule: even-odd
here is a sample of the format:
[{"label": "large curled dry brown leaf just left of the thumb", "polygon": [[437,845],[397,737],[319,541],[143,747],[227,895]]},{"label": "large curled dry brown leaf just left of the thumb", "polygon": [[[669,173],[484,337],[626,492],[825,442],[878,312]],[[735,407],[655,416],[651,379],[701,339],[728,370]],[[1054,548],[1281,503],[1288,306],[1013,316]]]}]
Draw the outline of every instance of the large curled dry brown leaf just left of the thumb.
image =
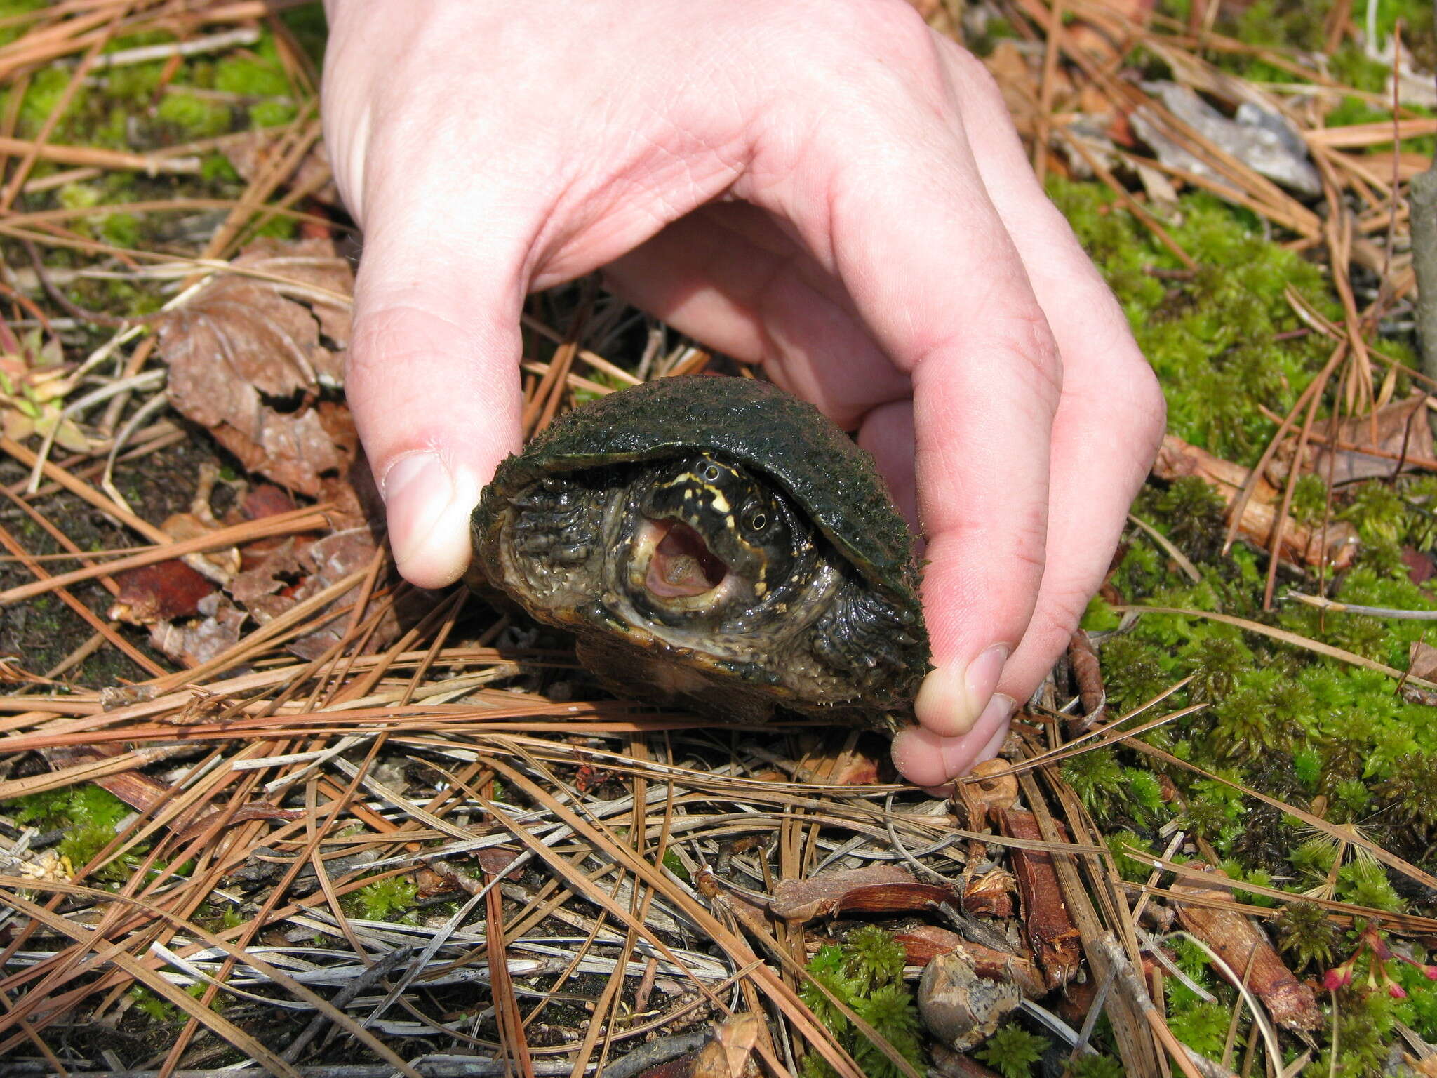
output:
[{"label": "large curled dry brown leaf just left of the thumb", "polygon": [[171,401],[244,467],[316,497],[322,476],[343,474],[358,447],[348,417],[318,400],[341,385],[338,349],[349,339],[348,309],[326,296],[349,296],[354,275],[328,240],[262,240],[233,264],[292,283],[221,275],[167,315],[158,329]]}]

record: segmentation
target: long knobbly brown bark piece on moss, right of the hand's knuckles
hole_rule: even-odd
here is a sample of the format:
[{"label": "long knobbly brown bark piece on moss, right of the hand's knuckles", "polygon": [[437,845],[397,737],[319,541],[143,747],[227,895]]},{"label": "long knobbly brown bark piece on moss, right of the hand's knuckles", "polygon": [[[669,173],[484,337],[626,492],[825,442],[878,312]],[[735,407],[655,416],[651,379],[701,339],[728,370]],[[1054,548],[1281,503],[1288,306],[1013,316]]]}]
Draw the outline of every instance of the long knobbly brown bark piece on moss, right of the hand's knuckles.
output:
[{"label": "long knobbly brown bark piece on moss, right of the hand's knuckles", "polygon": [[[1204,448],[1190,446],[1168,434],[1163,438],[1158,459],[1152,464],[1152,474],[1163,480],[1196,476],[1232,506],[1243,483],[1247,482],[1249,471],[1242,464],[1216,457]],[[1237,522],[1239,535],[1265,550],[1269,549],[1280,500],[1282,492],[1267,479],[1259,477]],[[1296,565],[1318,566],[1326,563],[1334,569],[1345,569],[1357,556],[1357,528],[1346,520],[1334,520],[1328,525],[1326,532],[1321,532],[1321,529],[1299,525],[1289,516],[1282,529],[1280,556]]]}]

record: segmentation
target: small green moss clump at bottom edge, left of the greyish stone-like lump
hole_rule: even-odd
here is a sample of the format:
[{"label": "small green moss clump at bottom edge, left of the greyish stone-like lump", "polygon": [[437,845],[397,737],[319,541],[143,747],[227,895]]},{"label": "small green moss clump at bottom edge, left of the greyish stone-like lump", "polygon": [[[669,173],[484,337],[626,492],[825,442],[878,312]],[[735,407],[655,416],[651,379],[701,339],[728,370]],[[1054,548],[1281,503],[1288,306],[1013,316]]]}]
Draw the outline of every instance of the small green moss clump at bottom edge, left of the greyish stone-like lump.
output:
[{"label": "small green moss clump at bottom edge, left of the greyish stone-like lump", "polygon": [[[808,972],[845,1006],[868,1022],[920,1072],[927,1065],[918,1042],[918,1008],[902,983],[904,950],[891,933],[875,926],[854,929],[841,946],[821,947]],[[862,1036],[829,998],[805,982],[799,996],[828,1026],[859,1069],[872,1078],[897,1078],[901,1071]],[[833,1069],[816,1052],[803,1056],[805,1078],[829,1078]]]}]

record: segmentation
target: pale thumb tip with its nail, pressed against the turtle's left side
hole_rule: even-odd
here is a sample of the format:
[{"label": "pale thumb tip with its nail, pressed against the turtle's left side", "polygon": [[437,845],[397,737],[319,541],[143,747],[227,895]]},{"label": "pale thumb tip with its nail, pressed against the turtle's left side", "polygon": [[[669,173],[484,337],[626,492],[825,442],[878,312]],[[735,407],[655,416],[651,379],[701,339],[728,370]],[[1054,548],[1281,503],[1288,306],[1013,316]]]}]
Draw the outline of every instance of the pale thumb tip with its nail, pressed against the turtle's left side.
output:
[{"label": "pale thumb tip with its nail, pressed against the turtle's left side", "polygon": [[421,588],[453,584],[468,565],[468,516],[479,483],[451,471],[437,453],[399,457],[379,484],[389,549],[399,572]]}]

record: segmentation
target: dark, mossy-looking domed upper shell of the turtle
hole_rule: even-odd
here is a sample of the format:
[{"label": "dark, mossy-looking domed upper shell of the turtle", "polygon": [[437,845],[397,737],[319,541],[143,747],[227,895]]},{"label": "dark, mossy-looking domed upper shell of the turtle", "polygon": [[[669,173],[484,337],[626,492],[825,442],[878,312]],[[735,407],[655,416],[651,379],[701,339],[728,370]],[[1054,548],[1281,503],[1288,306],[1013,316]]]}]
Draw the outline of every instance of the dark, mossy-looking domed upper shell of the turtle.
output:
[{"label": "dark, mossy-looking domed upper shell of the turtle", "polygon": [[678,375],[575,408],[510,456],[484,490],[507,500],[546,474],[701,450],[767,473],[874,591],[918,605],[912,532],[872,456],[772,382]]}]

